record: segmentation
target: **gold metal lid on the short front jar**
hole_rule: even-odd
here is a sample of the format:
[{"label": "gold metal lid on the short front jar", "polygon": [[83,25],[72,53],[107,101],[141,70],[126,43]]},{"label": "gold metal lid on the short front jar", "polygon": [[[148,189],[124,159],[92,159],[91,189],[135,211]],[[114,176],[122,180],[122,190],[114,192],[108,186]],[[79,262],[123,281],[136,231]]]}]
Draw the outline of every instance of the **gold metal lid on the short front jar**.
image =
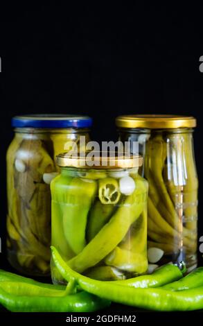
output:
[{"label": "gold metal lid on the short front jar", "polygon": [[122,156],[118,154],[113,157],[105,152],[97,153],[94,157],[92,152],[71,156],[69,153],[62,153],[56,156],[56,164],[60,167],[85,169],[130,169],[142,166],[143,157],[141,155]]}]

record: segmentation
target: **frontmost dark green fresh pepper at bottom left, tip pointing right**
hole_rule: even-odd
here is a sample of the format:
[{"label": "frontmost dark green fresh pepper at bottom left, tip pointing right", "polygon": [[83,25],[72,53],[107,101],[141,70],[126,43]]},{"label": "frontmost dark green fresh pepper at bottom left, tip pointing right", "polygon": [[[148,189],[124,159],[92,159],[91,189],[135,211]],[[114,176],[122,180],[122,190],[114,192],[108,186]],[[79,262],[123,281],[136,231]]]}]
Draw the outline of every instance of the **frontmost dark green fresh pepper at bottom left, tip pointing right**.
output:
[{"label": "frontmost dark green fresh pepper at bottom left, tip pointing right", "polygon": [[14,312],[91,312],[108,307],[103,300],[87,292],[53,296],[12,295],[0,288],[0,303]]}]

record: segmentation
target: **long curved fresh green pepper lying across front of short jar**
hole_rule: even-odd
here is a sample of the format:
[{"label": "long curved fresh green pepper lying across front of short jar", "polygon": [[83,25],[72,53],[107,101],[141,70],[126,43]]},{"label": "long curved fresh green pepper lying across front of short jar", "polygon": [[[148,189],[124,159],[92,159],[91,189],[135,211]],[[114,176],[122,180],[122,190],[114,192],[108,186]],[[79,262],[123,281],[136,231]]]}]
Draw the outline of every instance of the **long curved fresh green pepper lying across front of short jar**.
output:
[{"label": "long curved fresh green pepper lying across front of short jar", "polygon": [[164,289],[134,289],[120,284],[109,284],[73,271],[51,247],[53,260],[65,280],[74,278],[81,289],[114,302],[133,307],[158,311],[186,311],[203,308],[203,286],[186,291],[166,291]]}]

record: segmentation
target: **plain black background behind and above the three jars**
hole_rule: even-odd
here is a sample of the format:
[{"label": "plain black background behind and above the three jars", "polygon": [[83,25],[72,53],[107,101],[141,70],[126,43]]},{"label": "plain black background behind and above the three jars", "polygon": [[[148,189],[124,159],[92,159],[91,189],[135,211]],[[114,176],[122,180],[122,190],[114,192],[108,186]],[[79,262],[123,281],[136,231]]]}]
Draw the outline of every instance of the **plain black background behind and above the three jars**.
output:
[{"label": "plain black background behind and above the three jars", "polygon": [[203,235],[202,8],[95,2],[1,8],[0,267],[6,266],[5,155],[15,114],[88,114],[99,141],[116,139],[119,114],[195,116]]}]

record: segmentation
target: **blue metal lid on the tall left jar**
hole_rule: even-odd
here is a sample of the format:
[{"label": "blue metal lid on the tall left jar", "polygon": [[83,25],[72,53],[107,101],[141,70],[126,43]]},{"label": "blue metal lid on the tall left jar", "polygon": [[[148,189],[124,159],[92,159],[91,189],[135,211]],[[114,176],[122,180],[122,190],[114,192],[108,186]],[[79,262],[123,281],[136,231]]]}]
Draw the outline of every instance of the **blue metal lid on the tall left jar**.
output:
[{"label": "blue metal lid on the tall left jar", "polygon": [[71,114],[28,114],[12,118],[14,128],[89,128],[92,119]]}]

